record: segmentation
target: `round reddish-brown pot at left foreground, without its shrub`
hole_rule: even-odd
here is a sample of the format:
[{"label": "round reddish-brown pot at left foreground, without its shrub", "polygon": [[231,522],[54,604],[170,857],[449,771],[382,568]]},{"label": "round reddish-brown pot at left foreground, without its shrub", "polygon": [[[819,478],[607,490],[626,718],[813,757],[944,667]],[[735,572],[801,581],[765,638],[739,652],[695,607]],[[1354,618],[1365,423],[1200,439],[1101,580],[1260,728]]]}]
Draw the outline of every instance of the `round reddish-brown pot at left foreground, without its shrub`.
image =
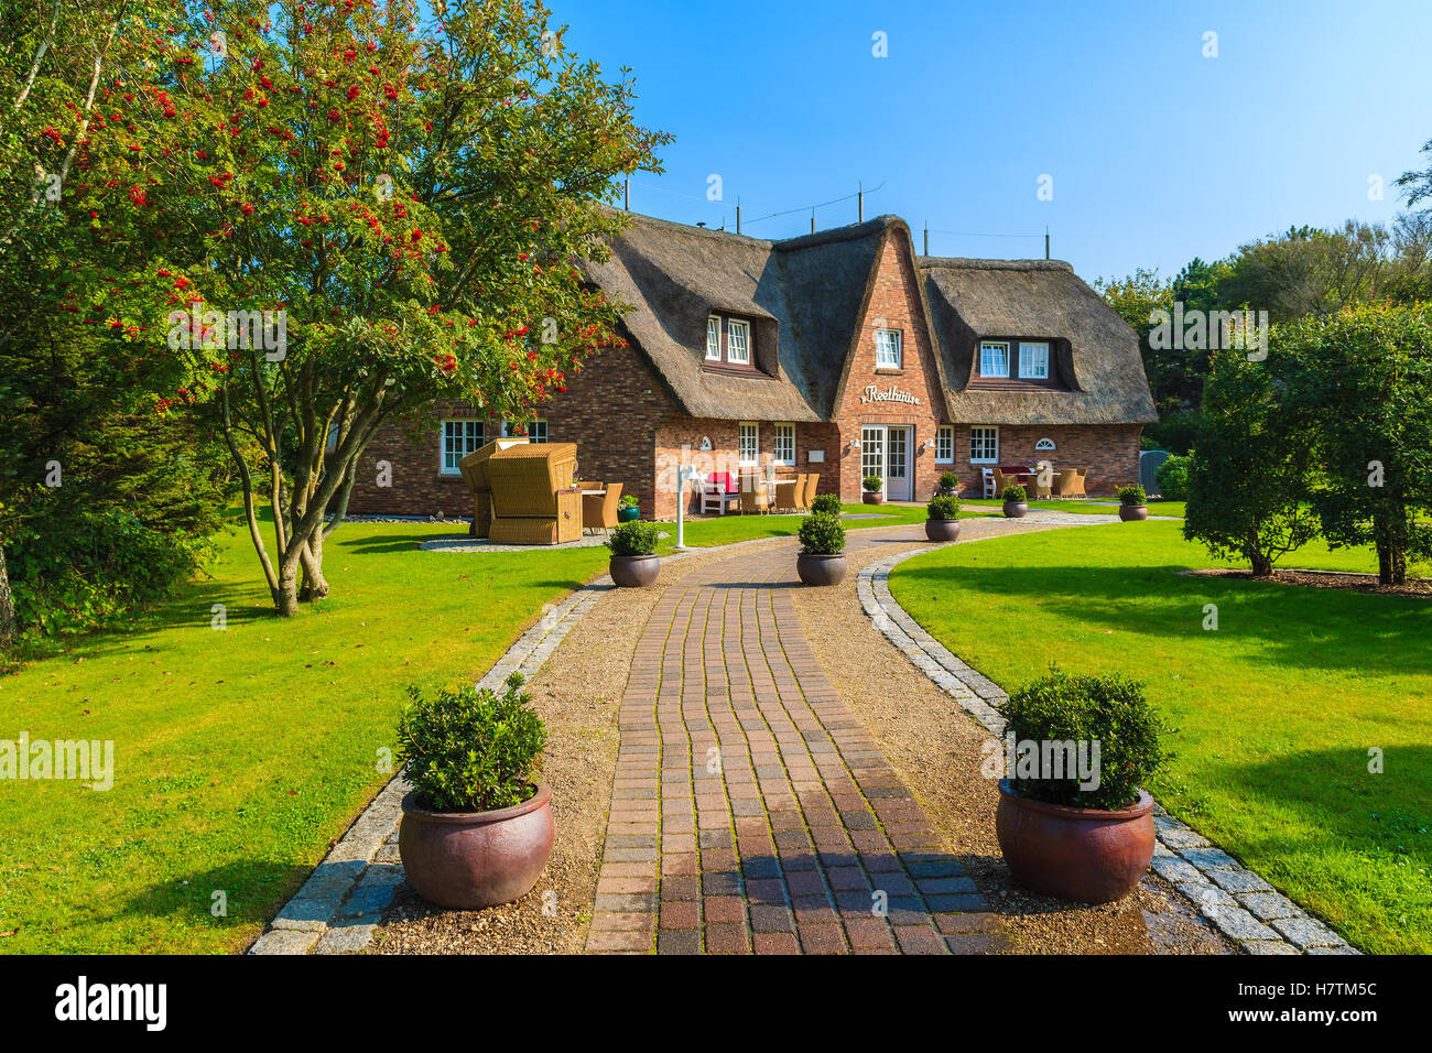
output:
[{"label": "round reddish-brown pot at left foreground, without its shrub", "polygon": [[546,784],[530,799],[495,812],[430,812],[408,794],[402,798],[398,854],[424,900],[478,910],[531,891],[556,832]]}]

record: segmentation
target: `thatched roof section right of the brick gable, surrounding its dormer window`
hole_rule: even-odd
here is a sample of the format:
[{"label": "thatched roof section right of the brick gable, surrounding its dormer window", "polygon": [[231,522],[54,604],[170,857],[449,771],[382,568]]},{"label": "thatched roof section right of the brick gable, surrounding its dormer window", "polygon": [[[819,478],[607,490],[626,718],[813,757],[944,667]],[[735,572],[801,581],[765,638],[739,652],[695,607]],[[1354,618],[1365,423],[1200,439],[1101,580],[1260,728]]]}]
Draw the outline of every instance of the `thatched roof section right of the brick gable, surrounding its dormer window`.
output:
[{"label": "thatched roof section right of the brick gable, surrounding its dormer window", "polygon": [[[1148,424],[1154,413],[1138,337],[1074,269],[1057,259],[918,259],[945,357],[955,421]],[[1048,340],[1068,390],[969,388],[988,338]]]}]

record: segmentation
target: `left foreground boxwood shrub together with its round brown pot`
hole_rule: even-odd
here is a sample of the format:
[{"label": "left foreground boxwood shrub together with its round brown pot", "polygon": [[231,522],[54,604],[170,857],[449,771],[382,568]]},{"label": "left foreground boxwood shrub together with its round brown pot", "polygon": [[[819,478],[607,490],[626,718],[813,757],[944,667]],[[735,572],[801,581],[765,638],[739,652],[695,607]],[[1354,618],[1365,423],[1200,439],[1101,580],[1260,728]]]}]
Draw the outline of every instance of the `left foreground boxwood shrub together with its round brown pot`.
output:
[{"label": "left foreground boxwood shrub together with its round brown pot", "polygon": [[547,729],[521,686],[513,673],[501,695],[468,685],[428,699],[408,688],[398,758],[412,792],[398,854],[418,895],[440,907],[511,903],[551,854],[551,791],[536,776]]}]

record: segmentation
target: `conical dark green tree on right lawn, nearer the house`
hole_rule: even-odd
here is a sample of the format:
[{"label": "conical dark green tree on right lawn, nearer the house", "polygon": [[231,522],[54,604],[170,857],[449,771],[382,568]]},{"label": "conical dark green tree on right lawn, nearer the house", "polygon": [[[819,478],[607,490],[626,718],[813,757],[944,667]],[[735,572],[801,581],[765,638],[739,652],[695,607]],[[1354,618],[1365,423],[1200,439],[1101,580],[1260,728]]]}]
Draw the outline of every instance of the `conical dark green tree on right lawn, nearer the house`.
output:
[{"label": "conical dark green tree on right lawn, nearer the house", "polygon": [[1183,536],[1247,560],[1254,577],[1317,534],[1310,441],[1285,401],[1282,365],[1273,348],[1263,362],[1242,351],[1214,355],[1187,470]]}]

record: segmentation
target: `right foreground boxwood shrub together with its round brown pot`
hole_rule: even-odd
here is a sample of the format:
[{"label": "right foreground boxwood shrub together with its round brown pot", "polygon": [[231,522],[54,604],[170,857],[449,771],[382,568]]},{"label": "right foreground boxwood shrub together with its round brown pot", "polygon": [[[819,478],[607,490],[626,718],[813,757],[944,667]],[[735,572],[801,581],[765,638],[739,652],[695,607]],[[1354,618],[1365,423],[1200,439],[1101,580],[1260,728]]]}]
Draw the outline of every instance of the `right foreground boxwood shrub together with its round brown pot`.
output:
[{"label": "right foreground boxwood shrub together with its round brown pot", "polygon": [[[1166,728],[1141,685],[1051,669],[998,709],[1012,771],[1000,781],[995,834],[1015,881],[1081,903],[1131,893],[1154,855],[1154,802],[1141,784],[1166,761]],[[1050,744],[1071,745],[1078,759],[1065,752],[1063,771],[1045,769]]]}]

